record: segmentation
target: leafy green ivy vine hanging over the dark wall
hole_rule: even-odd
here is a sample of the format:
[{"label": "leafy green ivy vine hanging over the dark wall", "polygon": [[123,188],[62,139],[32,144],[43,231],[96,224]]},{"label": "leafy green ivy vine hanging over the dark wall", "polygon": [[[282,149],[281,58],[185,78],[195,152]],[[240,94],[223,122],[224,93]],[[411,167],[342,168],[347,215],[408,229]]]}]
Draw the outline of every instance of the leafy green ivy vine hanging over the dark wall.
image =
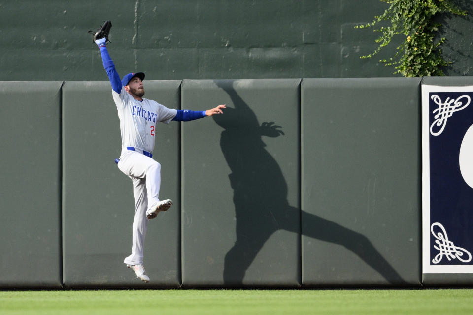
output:
[{"label": "leafy green ivy vine hanging over the dark wall", "polygon": [[[381,32],[375,40],[379,46],[372,54],[360,58],[372,58],[386,47],[395,35],[402,34],[405,39],[396,47],[397,52],[389,59],[380,62],[386,66],[394,66],[394,74],[405,77],[442,76],[442,68],[451,62],[441,54],[440,45],[445,37],[439,37],[438,17],[441,14],[466,15],[451,0],[380,0],[390,4],[382,15],[375,16],[372,23],[357,25],[355,28],[373,27],[373,31]],[[382,21],[387,21],[383,23]],[[388,26],[380,26],[379,24]]]}]

